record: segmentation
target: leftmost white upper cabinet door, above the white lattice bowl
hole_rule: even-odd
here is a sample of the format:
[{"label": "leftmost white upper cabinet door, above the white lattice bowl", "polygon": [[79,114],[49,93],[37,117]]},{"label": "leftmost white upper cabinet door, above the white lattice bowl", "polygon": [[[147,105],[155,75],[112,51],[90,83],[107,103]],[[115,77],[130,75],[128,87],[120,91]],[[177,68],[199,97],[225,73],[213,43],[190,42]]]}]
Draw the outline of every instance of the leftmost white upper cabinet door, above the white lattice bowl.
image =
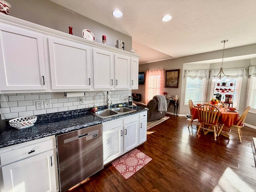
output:
[{"label": "leftmost white upper cabinet door, above the white lattice bowl", "polygon": [[0,90],[46,90],[42,34],[0,25]]}]

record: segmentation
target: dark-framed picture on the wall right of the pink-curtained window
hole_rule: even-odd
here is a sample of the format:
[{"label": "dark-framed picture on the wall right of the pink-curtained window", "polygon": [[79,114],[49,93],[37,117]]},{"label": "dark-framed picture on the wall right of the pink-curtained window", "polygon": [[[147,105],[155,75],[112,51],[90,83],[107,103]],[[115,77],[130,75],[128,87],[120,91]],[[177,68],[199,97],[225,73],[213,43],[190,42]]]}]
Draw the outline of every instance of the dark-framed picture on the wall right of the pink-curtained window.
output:
[{"label": "dark-framed picture on the wall right of the pink-curtained window", "polygon": [[179,88],[180,70],[166,70],[165,71],[165,84],[167,88]]}]

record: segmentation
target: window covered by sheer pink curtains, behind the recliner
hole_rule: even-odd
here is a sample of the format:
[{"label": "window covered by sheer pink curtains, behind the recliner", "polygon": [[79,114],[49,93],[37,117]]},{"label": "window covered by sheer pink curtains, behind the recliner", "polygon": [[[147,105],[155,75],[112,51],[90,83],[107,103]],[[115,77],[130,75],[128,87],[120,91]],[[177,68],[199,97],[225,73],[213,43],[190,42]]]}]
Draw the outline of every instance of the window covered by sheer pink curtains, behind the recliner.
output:
[{"label": "window covered by sheer pink curtains, behind the recliner", "polygon": [[147,104],[154,95],[163,93],[164,87],[164,70],[146,71],[145,81],[145,103]]}]

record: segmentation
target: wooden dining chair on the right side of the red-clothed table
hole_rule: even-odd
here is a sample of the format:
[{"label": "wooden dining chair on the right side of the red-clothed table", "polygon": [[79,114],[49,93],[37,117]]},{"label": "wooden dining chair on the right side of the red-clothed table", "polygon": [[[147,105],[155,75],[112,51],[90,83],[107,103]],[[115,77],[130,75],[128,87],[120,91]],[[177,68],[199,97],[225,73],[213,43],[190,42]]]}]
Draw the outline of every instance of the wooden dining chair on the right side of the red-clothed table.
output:
[{"label": "wooden dining chair on the right side of the red-clothed table", "polygon": [[[239,138],[239,142],[242,143],[242,132],[241,132],[241,128],[244,127],[244,121],[246,119],[246,116],[248,114],[248,111],[250,109],[250,106],[248,106],[243,114],[240,116],[240,118],[238,119],[238,121],[234,122],[234,124],[232,126],[230,126],[230,128],[226,128],[230,131],[236,131],[238,133],[238,138]],[[218,136],[220,135],[220,132],[222,131],[223,125],[221,126],[220,130],[218,131]],[[229,131],[229,132],[230,132]]]}]

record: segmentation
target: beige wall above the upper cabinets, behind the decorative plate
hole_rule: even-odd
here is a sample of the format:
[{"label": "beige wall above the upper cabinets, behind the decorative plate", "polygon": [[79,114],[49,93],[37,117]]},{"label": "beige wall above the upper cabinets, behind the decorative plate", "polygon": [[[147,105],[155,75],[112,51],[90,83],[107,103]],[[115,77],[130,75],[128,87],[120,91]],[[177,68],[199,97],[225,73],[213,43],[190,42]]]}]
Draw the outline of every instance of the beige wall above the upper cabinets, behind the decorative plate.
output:
[{"label": "beige wall above the upper cabinets, behind the decorative plate", "polygon": [[132,37],[49,0],[8,0],[8,3],[12,5],[10,16],[66,33],[69,32],[68,27],[71,26],[73,34],[81,38],[83,38],[82,30],[88,29],[94,34],[96,42],[102,43],[102,35],[106,35],[107,45],[115,47],[116,40],[121,39],[126,51],[132,48]]}]

